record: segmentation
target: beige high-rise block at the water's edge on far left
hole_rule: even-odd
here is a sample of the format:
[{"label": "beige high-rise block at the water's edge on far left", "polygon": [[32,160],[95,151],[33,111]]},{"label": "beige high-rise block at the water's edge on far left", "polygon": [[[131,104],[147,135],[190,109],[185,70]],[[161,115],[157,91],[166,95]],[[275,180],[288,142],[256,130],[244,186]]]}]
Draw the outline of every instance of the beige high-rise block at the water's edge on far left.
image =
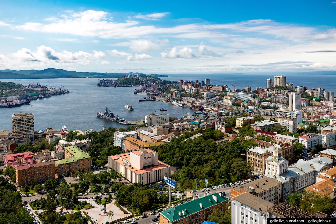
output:
[{"label": "beige high-rise block at the water's edge on far left", "polygon": [[12,115],[12,136],[15,142],[24,142],[34,136],[34,114],[14,113]]}]

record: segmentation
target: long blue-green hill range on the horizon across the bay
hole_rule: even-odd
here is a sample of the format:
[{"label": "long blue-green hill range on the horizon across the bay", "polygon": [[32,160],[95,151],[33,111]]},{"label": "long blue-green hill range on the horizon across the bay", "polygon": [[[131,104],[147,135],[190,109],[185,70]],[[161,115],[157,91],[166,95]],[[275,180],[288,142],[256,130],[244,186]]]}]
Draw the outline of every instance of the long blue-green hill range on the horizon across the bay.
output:
[{"label": "long blue-green hill range on the horizon across the bay", "polygon": [[[120,78],[125,74],[132,73],[96,73],[96,72],[76,72],[63,69],[44,69],[44,70],[0,70],[0,79],[54,79],[69,77],[94,77],[94,78]],[[143,73],[134,73],[135,75],[145,75]],[[154,75],[153,75],[154,76]]]}]

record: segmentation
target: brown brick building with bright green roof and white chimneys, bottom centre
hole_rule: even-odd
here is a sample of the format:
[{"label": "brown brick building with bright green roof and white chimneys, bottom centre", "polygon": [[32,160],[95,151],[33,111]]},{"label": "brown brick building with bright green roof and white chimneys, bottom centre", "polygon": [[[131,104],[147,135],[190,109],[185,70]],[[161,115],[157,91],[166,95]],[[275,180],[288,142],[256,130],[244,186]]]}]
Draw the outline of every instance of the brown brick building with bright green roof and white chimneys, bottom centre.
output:
[{"label": "brown brick building with bright green roof and white chimneys, bottom centre", "polygon": [[160,212],[160,224],[201,224],[215,209],[225,212],[229,199],[212,193]]}]

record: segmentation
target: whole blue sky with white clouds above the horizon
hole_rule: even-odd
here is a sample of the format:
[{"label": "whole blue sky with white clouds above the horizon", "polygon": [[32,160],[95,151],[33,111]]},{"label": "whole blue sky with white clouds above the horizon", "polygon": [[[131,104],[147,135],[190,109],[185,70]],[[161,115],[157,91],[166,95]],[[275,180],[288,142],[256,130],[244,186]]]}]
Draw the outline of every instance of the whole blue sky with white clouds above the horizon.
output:
[{"label": "whole blue sky with white clouds above the horizon", "polygon": [[336,71],[336,2],[16,1],[0,7],[0,70]]}]

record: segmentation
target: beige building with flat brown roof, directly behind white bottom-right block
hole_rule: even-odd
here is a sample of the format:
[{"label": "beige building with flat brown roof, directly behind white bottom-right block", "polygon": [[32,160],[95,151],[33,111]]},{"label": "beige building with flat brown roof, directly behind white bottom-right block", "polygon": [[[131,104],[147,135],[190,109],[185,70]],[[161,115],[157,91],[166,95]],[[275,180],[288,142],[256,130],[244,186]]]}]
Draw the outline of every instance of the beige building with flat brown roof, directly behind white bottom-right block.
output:
[{"label": "beige building with flat brown roof, directly behind white bottom-right block", "polygon": [[231,197],[242,193],[251,193],[274,204],[281,201],[281,183],[274,178],[261,177],[231,189]]}]

